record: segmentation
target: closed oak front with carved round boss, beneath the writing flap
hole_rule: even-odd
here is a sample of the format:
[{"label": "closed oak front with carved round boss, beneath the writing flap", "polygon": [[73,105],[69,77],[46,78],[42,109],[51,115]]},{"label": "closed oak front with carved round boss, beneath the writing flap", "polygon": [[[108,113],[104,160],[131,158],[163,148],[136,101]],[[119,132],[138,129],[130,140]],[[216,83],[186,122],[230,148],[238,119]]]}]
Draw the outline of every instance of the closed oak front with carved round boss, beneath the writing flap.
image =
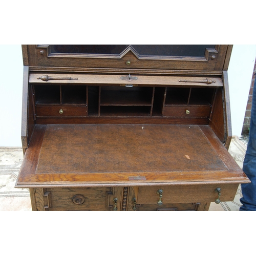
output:
[{"label": "closed oak front with carved round boss, beneath the writing flap", "polygon": [[[111,187],[36,188],[38,210],[112,210]],[[117,202],[120,209],[120,200]]]}]

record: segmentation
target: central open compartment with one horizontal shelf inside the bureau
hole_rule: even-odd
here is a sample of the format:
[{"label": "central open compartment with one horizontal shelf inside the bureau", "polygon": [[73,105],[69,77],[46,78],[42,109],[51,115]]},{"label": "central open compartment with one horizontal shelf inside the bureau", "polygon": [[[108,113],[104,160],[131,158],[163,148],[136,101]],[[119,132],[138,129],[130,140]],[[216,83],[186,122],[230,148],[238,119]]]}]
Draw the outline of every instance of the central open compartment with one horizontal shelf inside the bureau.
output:
[{"label": "central open compartment with one horizontal shelf inside the bureau", "polygon": [[99,87],[99,116],[152,116],[154,87]]}]

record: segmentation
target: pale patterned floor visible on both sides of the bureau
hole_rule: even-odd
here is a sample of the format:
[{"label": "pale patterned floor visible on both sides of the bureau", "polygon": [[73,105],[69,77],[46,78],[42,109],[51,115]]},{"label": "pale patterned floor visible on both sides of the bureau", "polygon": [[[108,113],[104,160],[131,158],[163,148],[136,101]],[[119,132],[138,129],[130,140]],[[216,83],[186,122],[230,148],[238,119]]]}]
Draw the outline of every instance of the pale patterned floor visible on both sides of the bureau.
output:
[{"label": "pale patterned floor visible on both sides of the bureau", "polygon": [[[247,136],[233,137],[229,153],[242,168],[246,152]],[[14,188],[19,168],[22,164],[23,152],[18,147],[0,147],[0,210],[29,211],[31,210],[29,189]],[[242,196],[239,186],[237,195],[232,202],[211,203],[210,211],[239,211]]]}]

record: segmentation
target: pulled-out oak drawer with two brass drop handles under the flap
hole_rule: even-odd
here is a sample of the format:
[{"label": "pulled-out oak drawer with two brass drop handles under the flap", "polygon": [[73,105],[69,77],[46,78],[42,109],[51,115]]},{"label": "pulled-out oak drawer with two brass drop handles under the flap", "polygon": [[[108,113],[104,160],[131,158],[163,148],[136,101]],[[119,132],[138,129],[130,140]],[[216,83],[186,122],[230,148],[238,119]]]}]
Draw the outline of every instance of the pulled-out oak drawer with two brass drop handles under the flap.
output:
[{"label": "pulled-out oak drawer with two brass drop handles under the flap", "polygon": [[[174,185],[139,187],[138,204],[158,205],[158,189],[162,189],[163,204],[215,202],[218,198],[216,188],[221,188],[221,201],[232,201],[236,195],[238,184],[206,184],[206,185]],[[136,197],[136,189],[134,197]],[[157,207],[156,207],[157,208]]]}]

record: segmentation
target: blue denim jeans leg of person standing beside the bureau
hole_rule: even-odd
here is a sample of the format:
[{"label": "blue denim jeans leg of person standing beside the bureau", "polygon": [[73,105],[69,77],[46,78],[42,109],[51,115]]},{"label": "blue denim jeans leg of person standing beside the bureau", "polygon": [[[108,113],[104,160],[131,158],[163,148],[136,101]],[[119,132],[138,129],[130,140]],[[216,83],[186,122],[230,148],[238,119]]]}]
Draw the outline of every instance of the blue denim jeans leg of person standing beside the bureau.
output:
[{"label": "blue denim jeans leg of person standing beside the bureau", "polygon": [[252,93],[250,132],[244,159],[243,171],[251,183],[242,184],[243,204],[240,210],[256,210],[256,79]]}]

